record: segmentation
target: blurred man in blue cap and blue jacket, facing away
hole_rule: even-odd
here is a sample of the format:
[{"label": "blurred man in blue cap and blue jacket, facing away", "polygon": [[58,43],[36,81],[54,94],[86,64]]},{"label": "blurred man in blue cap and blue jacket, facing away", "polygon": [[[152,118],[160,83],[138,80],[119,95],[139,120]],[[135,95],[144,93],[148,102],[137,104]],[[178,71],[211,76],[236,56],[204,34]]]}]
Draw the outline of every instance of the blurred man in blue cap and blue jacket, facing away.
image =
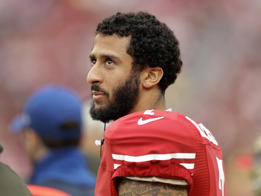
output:
[{"label": "blurred man in blue cap and blue jacket, facing away", "polygon": [[82,104],[69,88],[46,86],[28,99],[12,123],[24,136],[25,149],[35,164],[28,184],[60,189],[74,196],[94,195],[96,176],[79,149]]}]

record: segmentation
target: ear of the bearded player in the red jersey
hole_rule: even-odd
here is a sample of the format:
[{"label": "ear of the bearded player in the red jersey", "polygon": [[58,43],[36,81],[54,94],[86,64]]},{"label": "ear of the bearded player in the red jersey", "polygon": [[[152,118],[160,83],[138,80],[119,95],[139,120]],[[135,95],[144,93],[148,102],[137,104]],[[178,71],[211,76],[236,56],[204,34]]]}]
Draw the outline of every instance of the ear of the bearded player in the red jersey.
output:
[{"label": "ear of the bearded player in the red jersey", "polygon": [[159,83],[163,76],[163,70],[161,67],[148,67],[143,70],[143,86],[145,88],[150,88]]}]

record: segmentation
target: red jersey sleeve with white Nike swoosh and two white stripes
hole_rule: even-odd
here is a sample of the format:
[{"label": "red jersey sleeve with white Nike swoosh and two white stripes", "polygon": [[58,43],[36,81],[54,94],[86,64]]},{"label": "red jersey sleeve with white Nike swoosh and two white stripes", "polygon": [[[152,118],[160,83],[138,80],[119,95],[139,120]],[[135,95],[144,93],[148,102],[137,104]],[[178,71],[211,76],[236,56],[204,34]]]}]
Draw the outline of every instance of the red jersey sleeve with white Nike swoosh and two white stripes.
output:
[{"label": "red jersey sleeve with white Nike swoosh and two white stripes", "polygon": [[194,139],[178,120],[178,113],[143,111],[115,122],[105,134],[112,178],[157,177],[186,180],[188,187],[192,186]]}]

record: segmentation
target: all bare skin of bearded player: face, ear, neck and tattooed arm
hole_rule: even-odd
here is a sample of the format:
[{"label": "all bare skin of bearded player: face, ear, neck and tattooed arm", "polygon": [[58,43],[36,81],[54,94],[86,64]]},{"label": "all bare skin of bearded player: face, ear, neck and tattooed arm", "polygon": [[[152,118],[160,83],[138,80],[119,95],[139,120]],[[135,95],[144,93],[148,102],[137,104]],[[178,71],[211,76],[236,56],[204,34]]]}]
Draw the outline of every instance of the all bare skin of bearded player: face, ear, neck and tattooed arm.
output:
[{"label": "all bare skin of bearded player: face, ear, neck and tattooed arm", "polygon": [[[132,57],[126,53],[126,48],[130,42],[130,37],[104,36],[98,34],[94,40],[93,50],[90,54],[92,68],[87,76],[87,82],[91,85],[99,85],[109,93],[109,98],[102,93],[93,92],[95,107],[102,107],[108,99],[113,100],[112,91],[117,88],[119,83],[126,80],[132,68]],[[163,76],[163,70],[160,67],[148,67],[140,73],[141,83],[139,84],[140,95],[134,107],[128,114],[144,110],[166,110],[165,98],[161,94],[158,83]],[[128,183],[126,183],[128,182]],[[131,189],[131,186],[139,183],[139,186],[153,186],[157,182],[133,181],[127,178],[120,178],[118,184],[118,194],[121,195],[187,195],[187,186],[178,186],[171,184],[160,184],[158,192],[154,191],[137,193]],[[154,183],[154,184],[153,184]],[[170,187],[164,189],[164,186]],[[171,188],[172,186],[175,186]],[[130,193],[131,192],[131,193]],[[124,194],[125,193],[125,194]]]}]

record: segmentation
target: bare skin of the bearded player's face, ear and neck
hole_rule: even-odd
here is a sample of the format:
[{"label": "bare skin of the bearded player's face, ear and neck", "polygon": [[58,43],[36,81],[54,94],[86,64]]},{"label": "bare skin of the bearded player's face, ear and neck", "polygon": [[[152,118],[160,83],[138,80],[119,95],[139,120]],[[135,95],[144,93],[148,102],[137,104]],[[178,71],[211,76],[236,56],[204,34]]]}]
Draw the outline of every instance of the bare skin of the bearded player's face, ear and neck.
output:
[{"label": "bare skin of the bearded player's face, ear and neck", "polygon": [[[116,34],[112,36],[98,34],[94,40],[90,54],[93,65],[87,76],[87,82],[106,90],[111,100],[113,88],[125,81],[132,68],[133,59],[126,53],[129,41],[129,37],[118,37]],[[163,70],[160,67],[148,67],[141,72],[140,97],[128,114],[150,109],[166,109],[164,96],[157,85],[162,76]],[[104,96],[94,99],[94,103],[95,107],[103,106],[107,103],[107,98]]]}]

